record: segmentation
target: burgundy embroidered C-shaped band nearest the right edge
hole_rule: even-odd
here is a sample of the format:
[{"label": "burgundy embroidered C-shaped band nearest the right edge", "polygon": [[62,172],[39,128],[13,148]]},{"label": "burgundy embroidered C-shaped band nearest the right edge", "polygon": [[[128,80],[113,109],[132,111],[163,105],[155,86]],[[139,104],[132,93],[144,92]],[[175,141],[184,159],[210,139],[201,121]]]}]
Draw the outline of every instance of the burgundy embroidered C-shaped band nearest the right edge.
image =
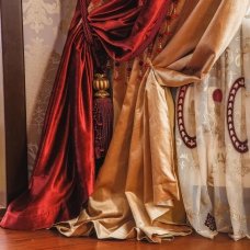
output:
[{"label": "burgundy embroidered C-shaped band nearest the right edge", "polygon": [[242,77],[235,81],[235,83],[232,84],[229,91],[228,101],[227,101],[227,127],[228,127],[229,137],[231,139],[231,143],[235,149],[238,152],[243,154],[249,150],[248,140],[246,139],[245,141],[241,141],[239,139],[239,137],[236,134],[235,123],[234,123],[235,100],[236,100],[236,94],[240,88],[245,88],[245,78]]}]

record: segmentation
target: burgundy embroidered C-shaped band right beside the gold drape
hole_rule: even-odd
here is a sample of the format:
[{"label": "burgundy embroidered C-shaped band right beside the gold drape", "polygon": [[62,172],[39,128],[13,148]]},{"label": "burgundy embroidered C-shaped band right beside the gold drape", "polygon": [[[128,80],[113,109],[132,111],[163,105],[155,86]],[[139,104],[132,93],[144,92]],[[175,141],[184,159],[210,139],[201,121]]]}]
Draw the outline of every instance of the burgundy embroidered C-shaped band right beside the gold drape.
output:
[{"label": "burgundy embroidered C-shaped band right beside the gold drape", "polygon": [[189,148],[195,148],[197,146],[196,144],[196,136],[190,136],[185,129],[185,123],[184,123],[184,101],[185,101],[185,94],[189,89],[190,84],[182,86],[179,90],[178,94],[178,101],[177,101],[177,123],[180,136]]}]

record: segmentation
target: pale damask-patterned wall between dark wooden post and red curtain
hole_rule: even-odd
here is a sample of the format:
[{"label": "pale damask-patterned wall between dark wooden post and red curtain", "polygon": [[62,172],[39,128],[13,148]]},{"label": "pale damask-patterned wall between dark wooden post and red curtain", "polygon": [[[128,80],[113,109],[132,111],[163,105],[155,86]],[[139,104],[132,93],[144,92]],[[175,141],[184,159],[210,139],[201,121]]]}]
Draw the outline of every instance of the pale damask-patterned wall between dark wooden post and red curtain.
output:
[{"label": "pale damask-patterned wall between dark wooden post and red curtain", "polygon": [[75,5],[76,0],[23,0],[30,173]]}]

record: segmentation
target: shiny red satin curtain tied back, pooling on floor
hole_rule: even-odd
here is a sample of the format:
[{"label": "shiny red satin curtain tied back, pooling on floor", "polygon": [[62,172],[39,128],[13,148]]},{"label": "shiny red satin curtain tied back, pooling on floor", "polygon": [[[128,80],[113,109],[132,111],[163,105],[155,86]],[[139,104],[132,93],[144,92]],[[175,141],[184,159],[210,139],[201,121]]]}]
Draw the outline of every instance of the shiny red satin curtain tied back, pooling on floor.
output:
[{"label": "shiny red satin curtain tied back, pooling on floor", "polygon": [[95,63],[94,44],[87,39],[86,29],[110,57],[128,60],[152,41],[168,4],[168,0],[111,0],[83,16],[87,0],[79,0],[29,190],[9,205],[1,227],[49,228],[80,213],[94,183],[92,80]]}]

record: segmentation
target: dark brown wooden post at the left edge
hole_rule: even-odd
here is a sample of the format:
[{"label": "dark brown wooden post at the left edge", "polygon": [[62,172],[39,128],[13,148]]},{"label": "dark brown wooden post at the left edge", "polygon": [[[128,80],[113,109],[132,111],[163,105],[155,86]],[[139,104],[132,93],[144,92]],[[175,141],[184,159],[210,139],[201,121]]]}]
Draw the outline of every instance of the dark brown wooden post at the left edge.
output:
[{"label": "dark brown wooden post at the left edge", "polygon": [[27,186],[22,1],[1,0],[7,202]]}]

